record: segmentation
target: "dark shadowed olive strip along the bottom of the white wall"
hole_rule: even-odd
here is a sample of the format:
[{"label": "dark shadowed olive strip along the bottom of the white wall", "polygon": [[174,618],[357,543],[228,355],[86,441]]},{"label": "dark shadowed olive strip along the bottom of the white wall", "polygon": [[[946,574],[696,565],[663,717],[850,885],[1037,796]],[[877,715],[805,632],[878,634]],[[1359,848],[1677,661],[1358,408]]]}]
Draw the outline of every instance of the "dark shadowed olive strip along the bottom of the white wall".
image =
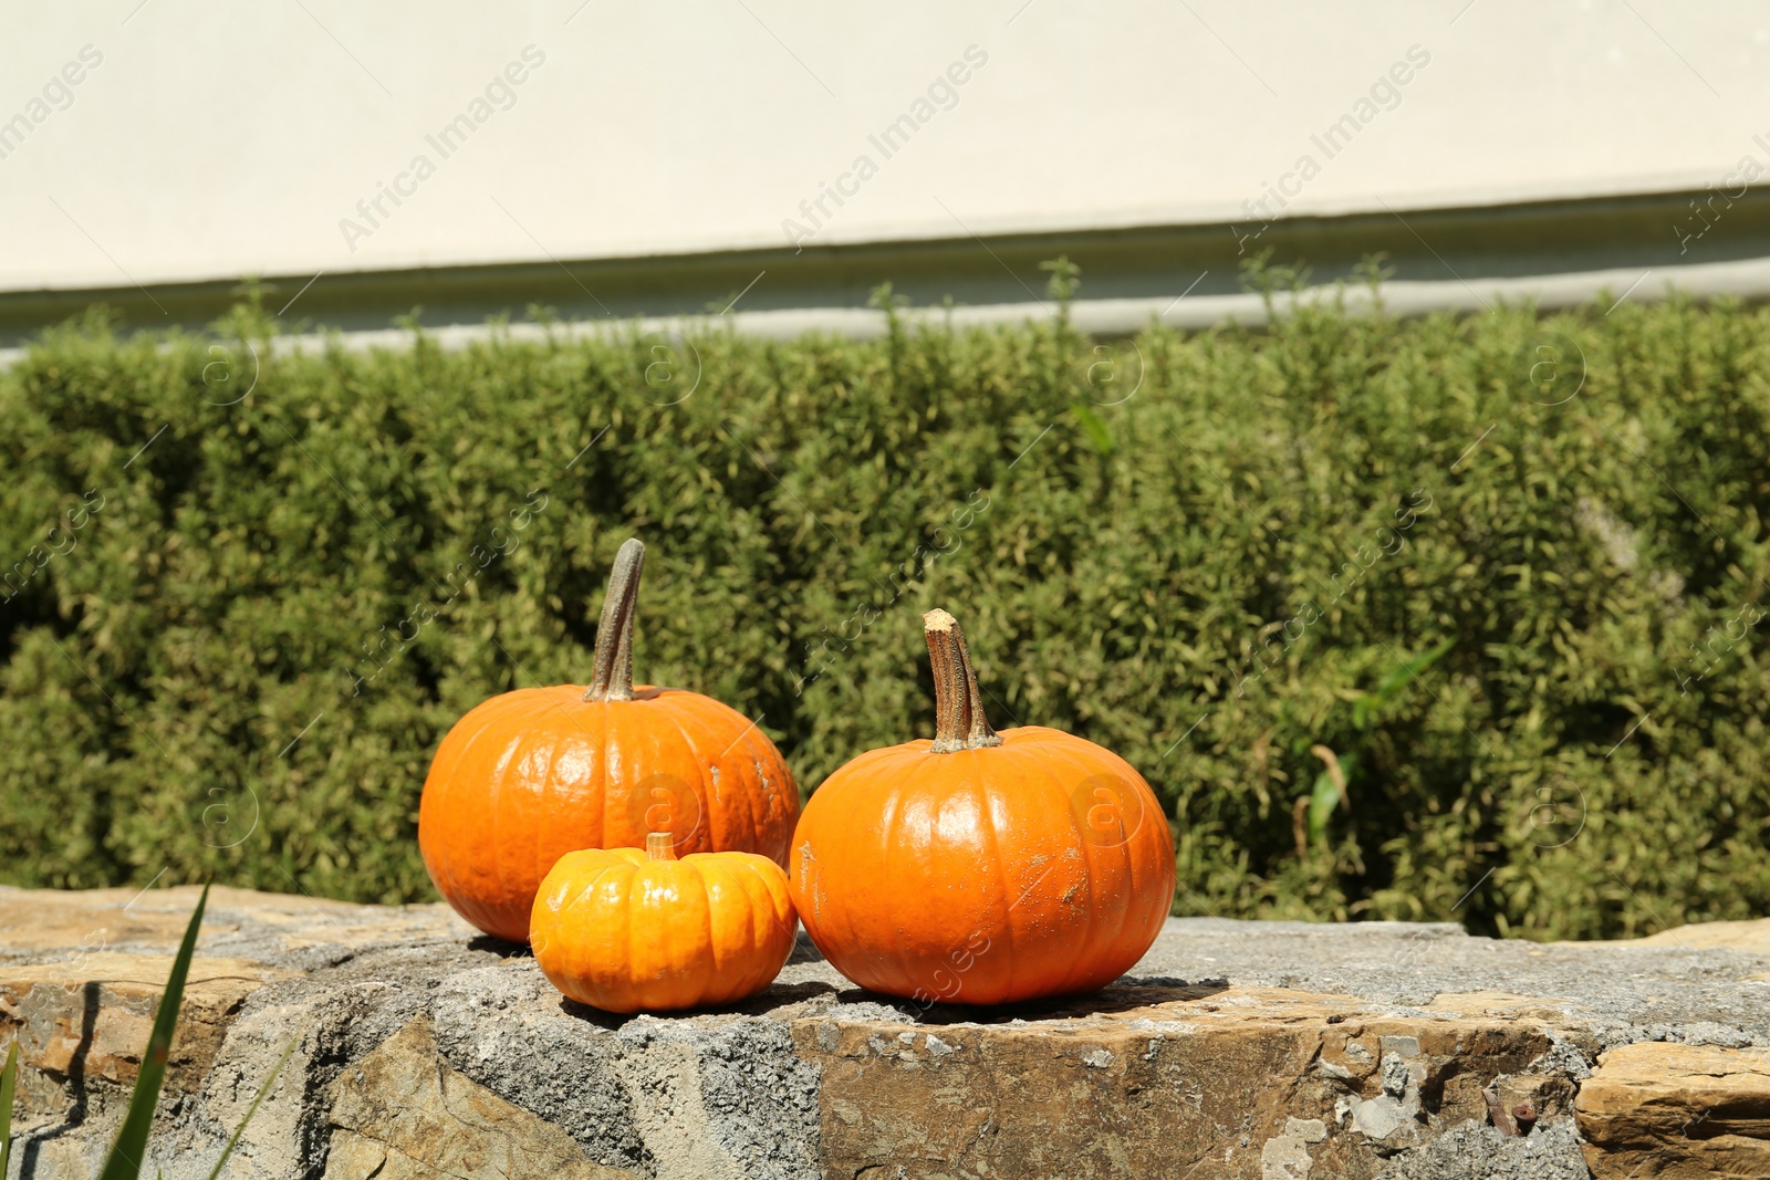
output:
[{"label": "dark shadowed olive strip along the bottom of the white wall", "polygon": [[[1701,237],[1694,237],[1697,230],[1705,230]],[[1680,241],[1682,234],[1692,237]],[[1400,216],[1287,218],[1264,230],[1159,225],[986,241],[370,271],[326,274],[304,292],[312,276],[274,276],[262,290],[273,311],[301,292],[285,317],[290,326],[340,331],[382,329],[414,308],[427,327],[494,317],[524,320],[535,306],[565,320],[704,315],[724,310],[740,292],[740,311],[853,310],[864,308],[885,281],[917,306],[938,306],[947,297],[959,306],[1035,306],[1046,280],[1039,262],[1057,255],[1081,267],[1081,297],[1097,301],[1161,299],[1188,288],[1195,297],[1232,295],[1243,288],[1241,264],[1266,249],[1274,262],[1306,264],[1312,283],[1345,280],[1375,253],[1388,257],[1397,281],[1450,285],[1770,258],[1770,189],[1731,202],[1713,191],[1676,191]],[[92,304],[113,308],[129,329],[200,329],[244,292],[239,280],[163,283],[149,294],[136,287],[5,292],[0,347],[25,343]],[[1457,303],[1448,299],[1446,306]]]}]

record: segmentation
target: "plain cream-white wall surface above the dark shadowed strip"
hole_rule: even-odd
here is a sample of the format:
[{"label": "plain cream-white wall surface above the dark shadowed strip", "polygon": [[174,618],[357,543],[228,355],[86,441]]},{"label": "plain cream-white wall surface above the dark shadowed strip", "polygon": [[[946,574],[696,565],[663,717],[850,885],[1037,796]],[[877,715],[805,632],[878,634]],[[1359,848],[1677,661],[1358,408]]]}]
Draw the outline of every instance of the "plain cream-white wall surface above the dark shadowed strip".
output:
[{"label": "plain cream-white wall surface above the dark shadowed strip", "polygon": [[[1770,170],[1770,5],[1466,4],[7,5],[0,120],[103,64],[0,159],[0,290],[777,246],[862,154],[812,241],[1235,221],[1304,154],[1289,212]],[[425,136],[526,46],[515,104],[442,159]],[[885,159],[869,133],[968,46],[958,104]],[[1398,106],[1328,159],[1310,136],[1411,46]],[[435,175],[350,249],[340,221],[419,154]]]}]

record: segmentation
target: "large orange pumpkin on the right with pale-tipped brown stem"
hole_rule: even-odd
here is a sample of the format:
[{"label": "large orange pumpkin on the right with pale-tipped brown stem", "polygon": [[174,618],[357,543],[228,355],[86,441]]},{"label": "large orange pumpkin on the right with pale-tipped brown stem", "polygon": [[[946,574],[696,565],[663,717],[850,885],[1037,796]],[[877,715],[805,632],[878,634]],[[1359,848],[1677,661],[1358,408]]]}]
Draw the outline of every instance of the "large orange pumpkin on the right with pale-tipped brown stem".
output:
[{"label": "large orange pumpkin on the right with pale-tipped brown stem", "polygon": [[805,931],[855,984],[922,1003],[1110,984],[1174,900],[1161,803],[1092,741],[997,734],[958,623],[924,624],[935,739],[862,754],[811,796],[789,865]]}]

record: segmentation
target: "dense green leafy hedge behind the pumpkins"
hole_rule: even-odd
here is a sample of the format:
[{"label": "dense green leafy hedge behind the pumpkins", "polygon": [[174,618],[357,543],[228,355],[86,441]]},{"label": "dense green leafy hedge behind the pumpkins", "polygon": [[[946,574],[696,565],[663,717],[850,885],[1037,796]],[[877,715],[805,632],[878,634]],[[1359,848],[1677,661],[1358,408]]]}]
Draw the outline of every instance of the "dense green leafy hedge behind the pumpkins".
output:
[{"label": "dense green leafy hedge behind the pumpkins", "polygon": [[919,614],[952,609],[998,725],[1145,771],[1181,913],[1552,938],[1770,904],[1763,310],[273,331],[90,317],[0,377],[5,881],[428,899],[432,748],[582,681],[637,534],[641,678],[759,716],[802,789],[931,731]]}]

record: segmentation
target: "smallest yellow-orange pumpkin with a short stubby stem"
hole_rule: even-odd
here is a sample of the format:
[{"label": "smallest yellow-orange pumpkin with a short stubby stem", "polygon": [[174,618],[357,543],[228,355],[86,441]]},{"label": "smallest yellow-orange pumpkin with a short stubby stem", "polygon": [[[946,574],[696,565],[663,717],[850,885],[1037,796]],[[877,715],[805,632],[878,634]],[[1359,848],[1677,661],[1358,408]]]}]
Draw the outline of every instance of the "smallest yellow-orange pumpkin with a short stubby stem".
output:
[{"label": "smallest yellow-orange pumpkin with a short stubby stem", "polygon": [[798,923],[786,872],[754,853],[676,860],[646,849],[566,853],[535,897],[535,962],[561,992],[605,1012],[731,1003],[768,987]]}]

